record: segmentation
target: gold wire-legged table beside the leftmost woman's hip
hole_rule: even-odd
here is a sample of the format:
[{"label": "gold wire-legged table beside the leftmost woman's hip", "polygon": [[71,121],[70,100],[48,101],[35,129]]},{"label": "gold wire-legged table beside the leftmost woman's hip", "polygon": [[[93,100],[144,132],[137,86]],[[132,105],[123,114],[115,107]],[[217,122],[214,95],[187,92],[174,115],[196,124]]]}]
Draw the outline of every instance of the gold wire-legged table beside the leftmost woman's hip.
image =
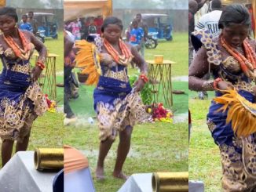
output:
[{"label": "gold wire-legged table beside the leftmost woman's hip", "polygon": [[[56,58],[57,54],[48,53],[46,56],[46,69],[43,71],[43,78],[39,78],[42,85],[42,91],[49,96],[50,100],[57,97],[56,89]],[[35,53],[35,60],[38,60],[38,53]]]}]

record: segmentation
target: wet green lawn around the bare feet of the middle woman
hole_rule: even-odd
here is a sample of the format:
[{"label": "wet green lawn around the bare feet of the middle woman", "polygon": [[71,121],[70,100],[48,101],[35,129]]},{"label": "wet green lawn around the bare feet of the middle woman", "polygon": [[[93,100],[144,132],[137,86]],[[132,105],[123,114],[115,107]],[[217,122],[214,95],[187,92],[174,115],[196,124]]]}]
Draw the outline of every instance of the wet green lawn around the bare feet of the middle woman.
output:
[{"label": "wet green lawn around the bare feet of the middle woman", "polygon": [[[86,154],[96,190],[119,190],[124,181],[112,177],[119,139],[116,139],[105,160],[105,175],[108,179],[99,182],[94,179],[99,147],[97,125],[67,127],[65,132],[64,143]],[[140,172],[188,171],[188,123],[136,125],[123,171],[128,175]]]}]

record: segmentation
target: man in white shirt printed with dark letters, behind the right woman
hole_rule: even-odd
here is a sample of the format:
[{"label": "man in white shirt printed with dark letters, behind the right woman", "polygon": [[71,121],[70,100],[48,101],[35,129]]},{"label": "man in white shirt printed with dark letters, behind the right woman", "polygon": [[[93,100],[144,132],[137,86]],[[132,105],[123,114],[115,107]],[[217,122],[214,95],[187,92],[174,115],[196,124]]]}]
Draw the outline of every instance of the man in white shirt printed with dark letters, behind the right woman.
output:
[{"label": "man in white shirt printed with dark letters, behind the right woman", "polygon": [[221,17],[221,0],[212,0],[210,2],[210,13],[203,15],[198,24],[196,24],[195,30],[207,29],[210,34],[218,35],[218,21]]}]

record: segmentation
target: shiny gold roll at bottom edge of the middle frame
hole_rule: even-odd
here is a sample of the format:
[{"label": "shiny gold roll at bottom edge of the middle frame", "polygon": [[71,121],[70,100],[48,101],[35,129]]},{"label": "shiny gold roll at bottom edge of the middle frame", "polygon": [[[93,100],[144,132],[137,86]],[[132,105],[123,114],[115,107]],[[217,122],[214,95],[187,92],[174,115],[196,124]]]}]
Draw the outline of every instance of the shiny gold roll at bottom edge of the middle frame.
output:
[{"label": "shiny gold roll at bottom edge of the middle frame", "polygon": [[154,172],[153,192],[188,192],[188,172]]}]

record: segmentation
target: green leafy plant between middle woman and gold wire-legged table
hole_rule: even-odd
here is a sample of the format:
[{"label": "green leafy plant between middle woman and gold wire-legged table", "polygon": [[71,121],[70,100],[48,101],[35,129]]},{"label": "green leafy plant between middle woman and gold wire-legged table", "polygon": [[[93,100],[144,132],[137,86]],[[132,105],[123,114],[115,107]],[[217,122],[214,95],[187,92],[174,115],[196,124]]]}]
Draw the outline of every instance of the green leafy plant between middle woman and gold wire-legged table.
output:
[{"label": "green leafy plant between middle woman and gold wire-legged table", "polygon": [[[138,74],[133,74],[130,77],[130,85],[133,87],[134,83],[138,79]],[[146,83],[144,85],[144,88],[141,90],[141,100],[144,103],[144,105],[150,105],[152,103],[152,91],[150,88],[149,83]]]}]

